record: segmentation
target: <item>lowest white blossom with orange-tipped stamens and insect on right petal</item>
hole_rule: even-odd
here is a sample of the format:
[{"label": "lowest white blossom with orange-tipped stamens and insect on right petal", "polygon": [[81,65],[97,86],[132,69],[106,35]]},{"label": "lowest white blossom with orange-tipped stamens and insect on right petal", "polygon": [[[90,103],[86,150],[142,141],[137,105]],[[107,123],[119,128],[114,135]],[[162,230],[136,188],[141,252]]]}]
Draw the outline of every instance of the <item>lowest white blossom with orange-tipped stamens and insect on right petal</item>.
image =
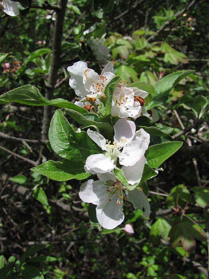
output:
[{"label": "lowest white blossom with orange-tipped stamens and insect on right petal", "polygon": [[97,219],[103,228],[113,229],[123,222],[122,208],[126,200],[141,209],[144,217],[150,215],[150,203],[144,193],[137,188],[128,191],[120,181],[112,181],[109,185],[89,179],[81,185],[79,192],[82,201],[97,205]]}]

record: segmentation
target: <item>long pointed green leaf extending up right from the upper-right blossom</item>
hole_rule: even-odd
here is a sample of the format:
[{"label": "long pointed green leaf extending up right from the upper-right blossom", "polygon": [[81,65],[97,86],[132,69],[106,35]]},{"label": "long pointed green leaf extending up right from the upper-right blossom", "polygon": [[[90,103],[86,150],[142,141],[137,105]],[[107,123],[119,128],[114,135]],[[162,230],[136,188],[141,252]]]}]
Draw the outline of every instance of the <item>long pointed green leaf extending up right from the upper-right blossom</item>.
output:
[{"label": "long pointed green leaf extending up right from the upper-right blossom", "polygon": [[155,85],[155,95],[153,100],[146,106],[146,109],[165,103],[168,100],[171,89],[175,87],[183,78],[194,72],[194,70],[187,70],[184,72],[181,71],[171,73],[159,80],[159,82]]}]

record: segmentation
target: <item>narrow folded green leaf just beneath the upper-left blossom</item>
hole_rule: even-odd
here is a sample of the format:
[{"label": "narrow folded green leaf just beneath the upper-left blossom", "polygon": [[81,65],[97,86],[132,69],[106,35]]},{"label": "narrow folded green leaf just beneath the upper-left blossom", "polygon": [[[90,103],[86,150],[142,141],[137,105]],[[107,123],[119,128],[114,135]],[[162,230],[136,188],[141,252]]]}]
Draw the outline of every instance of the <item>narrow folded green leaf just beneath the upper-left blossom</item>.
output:
[{"label": "narrow folded green leaf just beneath the upper-left blossom", "polygon": [[85,115],[72,110],[72,109],[65,109],[65,112],[71,116],[76,122],[81,123],[84,126],[96,126],[99,130],[104,131],[107,135],[107,138],[111,138],[113,128],[110,124],[105,122],[96,122],[93,120],[89,120],[85,117]]}]

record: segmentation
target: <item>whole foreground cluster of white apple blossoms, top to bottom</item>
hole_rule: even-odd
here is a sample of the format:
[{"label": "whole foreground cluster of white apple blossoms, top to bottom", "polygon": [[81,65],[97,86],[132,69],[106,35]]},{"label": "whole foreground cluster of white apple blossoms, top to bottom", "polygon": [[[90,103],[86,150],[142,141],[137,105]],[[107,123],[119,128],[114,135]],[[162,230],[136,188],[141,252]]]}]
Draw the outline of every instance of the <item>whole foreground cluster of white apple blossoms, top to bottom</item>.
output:
[{"label": "whole foreground cluster of white apple blossoms, top to bottom", "polygon": [[[67,70],[71,74],[69,84],[78,96],[75,104],[97,113],[96,108],[106,98],[105,88],[115,78],[112,63],[109,62],[100,75],[81,61]],[[141,209],[145,217],[150,214],[149,201],[137,188],[147,163],[145,151],[150,135],[143,129],[136,131],[135,123],[129,119],[142,114],[151,116],[152,112],[144,107],[147,95],[146,91],[119,82],[111,104],[111,116],[118,117],[113,126],[113,138],[106,139],[98,131],[87,130],[88,136],[101,148],[101,153],[87,157],[84,169],[97,175],[98,180],[89,179],[83,183],[79,196],[83,201],[97,205],[97,220],[106,229],[113,229],[123,222],[125,201]]]}]

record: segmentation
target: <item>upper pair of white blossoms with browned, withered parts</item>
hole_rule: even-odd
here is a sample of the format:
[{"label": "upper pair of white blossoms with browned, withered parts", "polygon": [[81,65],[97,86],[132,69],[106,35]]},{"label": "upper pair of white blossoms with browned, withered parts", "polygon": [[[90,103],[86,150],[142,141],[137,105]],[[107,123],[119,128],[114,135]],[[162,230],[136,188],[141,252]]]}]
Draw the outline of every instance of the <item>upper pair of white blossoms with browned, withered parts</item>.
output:
[{"label": "upper pair of white blossoms with browned, withered parts", "polygon": [[[86,108],[89,112],[96,112],[101,97],[106,98],[105,88],[107,84],[115,77],[112,63],[109,62],[100,75],[89,69],[87,63],[82,61],[69,66],[67,71],[71,75],[69,84],[78,96],[75,104]],[[157,121],[159,119],[157,111],[146,111],[144,107],[147,95],[146,91],[137,87],[127,87],[127,82],[119,82],[113,93],[111,115],[120,118],[153,115],[154,121]]]}]

